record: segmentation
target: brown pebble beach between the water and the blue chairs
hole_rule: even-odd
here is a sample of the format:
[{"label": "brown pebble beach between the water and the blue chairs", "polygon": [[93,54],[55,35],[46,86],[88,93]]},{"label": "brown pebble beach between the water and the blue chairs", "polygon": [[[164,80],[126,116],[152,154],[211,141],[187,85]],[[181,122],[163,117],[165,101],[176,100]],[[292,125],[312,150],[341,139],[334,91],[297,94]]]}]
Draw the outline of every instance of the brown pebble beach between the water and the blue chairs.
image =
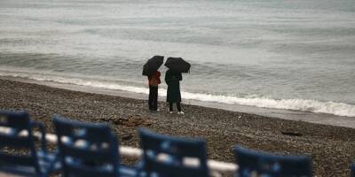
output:
[{"label": "brown pebble beach between the water and the blue chairs", "polygon": [[[107,122],[120,143],[138,147],[138,127],[208,142],[209,158],[234,162],[233,147],[308,155],[317,176],[349,176],[355,160],[355,129],[278,119],[244,112],[183,104],[185,115],[152,113],[146,100],[58,89],[0,79],[0,108],[28,110],[53,132],[54,113],[72,119]],[[161,110],[166,108],[160,103]],[[296,133],[292,135],[289,133]]]}]

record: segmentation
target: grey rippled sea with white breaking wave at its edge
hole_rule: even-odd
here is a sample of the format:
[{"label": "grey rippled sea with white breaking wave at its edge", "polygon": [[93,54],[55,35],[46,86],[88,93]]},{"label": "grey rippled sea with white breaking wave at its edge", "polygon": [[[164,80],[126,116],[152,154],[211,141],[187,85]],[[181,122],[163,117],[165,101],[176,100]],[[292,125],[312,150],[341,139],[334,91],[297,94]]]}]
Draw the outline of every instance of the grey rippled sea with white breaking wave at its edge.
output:
[{"label": "grey rippled sea with white breaking wave at its edge", "polygon": [[147,94],[154,55],[185,100],[355,117],[354,0],[0,1],[0,76]]}]

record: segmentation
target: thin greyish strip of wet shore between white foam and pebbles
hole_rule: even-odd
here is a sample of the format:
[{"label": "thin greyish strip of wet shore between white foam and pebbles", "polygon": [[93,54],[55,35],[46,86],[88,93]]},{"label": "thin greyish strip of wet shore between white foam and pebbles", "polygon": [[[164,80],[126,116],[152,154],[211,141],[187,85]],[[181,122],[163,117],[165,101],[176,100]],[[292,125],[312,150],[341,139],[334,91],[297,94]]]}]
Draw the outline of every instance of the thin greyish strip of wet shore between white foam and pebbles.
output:
[{"label": "thin greyish strip of wet shore between white foam and pebbles", "polygon": [[[81,91],[81,92],[93,93],[93,94],[103,94],[108,96],[122,96],[122,97],[129,97],[129,98],[134,98],[139,100],[147,100],[148,98],[148,95],[146,94],[138,94],[138,93],[117,90],[117,89],[100,89],[100,88],[92,88],[87,86],[80,86],[80,85],[73,85],[73,84],[66,84],[66,83],[59,83],[59,82],[52,82],[52,81],[35,81],[35,80],[30,80],[21,77],[0,76],[0,80],[21,81],[21,82],[34,83],[43,86],[49,86],[58,89],[69,89],[73,91]],[[164,104],[165,98],[166,98],[165,96],[159,96],[159,102],[161,104]],[[208,108],[222,109],[225,111],[256,114],[258,116],[272,117],[277,119],[288,119],[288,120],[304,121],[304,122],[329,125],[329,126],[355,128],[355,117],[336,116],[327,113],[262,108],[262,107],[240,105],[240,104],[221,104],[215,102],[203,102],[203,101],[190,100],[190,99],[183,99],[182,103],[198,105],[198,106],[208,107]]]}]

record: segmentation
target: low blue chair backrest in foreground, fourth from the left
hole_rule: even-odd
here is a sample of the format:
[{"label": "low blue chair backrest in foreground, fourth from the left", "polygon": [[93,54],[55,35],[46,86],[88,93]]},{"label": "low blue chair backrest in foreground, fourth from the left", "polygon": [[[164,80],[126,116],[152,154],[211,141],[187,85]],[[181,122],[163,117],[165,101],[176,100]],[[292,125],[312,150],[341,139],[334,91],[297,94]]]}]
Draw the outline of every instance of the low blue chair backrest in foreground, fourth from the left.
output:
[{"label": "low blue chair backrest in foreground, fourth from the left", "polygon": [[267,177],[311,177],[312,158],[304,156],[281,156],[256,150],[236,147],[235,158],[239,165],[237,176],[249,177],[252,174]]}]

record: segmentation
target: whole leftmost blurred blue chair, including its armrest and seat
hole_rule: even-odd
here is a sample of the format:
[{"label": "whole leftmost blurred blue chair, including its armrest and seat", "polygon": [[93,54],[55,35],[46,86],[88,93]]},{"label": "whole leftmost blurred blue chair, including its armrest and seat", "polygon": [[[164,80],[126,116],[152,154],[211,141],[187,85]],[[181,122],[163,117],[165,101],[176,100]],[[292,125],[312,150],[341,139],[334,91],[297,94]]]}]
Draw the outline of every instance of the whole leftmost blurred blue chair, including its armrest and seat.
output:
[{"label": "whole leftmost blurred blue chair, including its armrest and seat", "polygon": [[42,150],[36,150],[33,128],[38,127],[42,137],[45,129],[41,122],[30,119],[28,112],[0,111],[0,127],[0,171],[45,177],[59,169],[56,156],[46,149],[45,138],[42,138]]}]

